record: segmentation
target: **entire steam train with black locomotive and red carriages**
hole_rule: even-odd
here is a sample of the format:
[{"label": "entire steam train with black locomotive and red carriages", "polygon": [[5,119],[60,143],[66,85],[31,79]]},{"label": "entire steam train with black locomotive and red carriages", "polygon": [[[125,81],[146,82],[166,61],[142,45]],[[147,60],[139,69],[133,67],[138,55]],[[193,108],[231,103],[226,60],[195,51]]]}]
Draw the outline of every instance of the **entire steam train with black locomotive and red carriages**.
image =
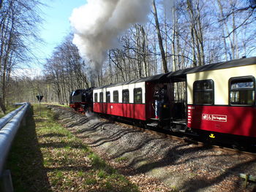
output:
[{"label": "entire steam train with black locomotive and red carriages", "polygon": [[70,107],[145,126],[256,146],[256,57],[73,91]]}]

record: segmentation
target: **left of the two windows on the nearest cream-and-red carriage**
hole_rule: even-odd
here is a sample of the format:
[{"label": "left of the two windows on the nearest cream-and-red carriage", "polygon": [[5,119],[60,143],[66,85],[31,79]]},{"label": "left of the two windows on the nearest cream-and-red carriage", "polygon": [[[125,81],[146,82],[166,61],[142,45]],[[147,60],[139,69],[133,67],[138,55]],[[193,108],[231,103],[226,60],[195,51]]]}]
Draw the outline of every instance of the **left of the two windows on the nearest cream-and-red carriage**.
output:
[{"label": "left of the two windows on the nearest cream-and-red carriage", "polygon": [[193,85],[194,104],[214,104],[214,81],[199,80]]}]

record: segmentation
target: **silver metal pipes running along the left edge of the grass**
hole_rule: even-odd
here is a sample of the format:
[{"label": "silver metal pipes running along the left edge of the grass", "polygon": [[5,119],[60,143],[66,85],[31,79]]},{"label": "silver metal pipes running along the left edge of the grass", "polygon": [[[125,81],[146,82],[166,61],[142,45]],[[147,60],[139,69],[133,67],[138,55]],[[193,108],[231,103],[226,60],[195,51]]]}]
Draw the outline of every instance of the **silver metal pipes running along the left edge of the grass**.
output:
[{"label": "silver metal pipes running along the left edge of the grass", "polygon": [[24,115],[29,109],[29,103],[23,103],[17,110],[10,112],[0,119],[0,191],[13,191],[12,178],[9,170],[4,170],[4,165],[15,138],[15,134],[20,127]]}]

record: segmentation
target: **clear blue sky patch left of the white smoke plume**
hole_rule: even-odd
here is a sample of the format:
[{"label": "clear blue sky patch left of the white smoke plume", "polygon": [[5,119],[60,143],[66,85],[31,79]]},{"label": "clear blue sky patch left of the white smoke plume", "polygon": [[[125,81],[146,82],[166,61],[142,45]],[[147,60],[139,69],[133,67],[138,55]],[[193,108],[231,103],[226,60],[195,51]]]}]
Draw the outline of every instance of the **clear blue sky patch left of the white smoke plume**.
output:
[{"label": "clear blue sky patch left of the white smoke plume", "polygon": [[[86,4],[86,0],[47,0],[44,2],[47,7],[42,7],[42,29],[40,37],[45,41],[44,45],[36,45],[39,48],[40,63],[44,63],[45,58],[49,58],[53,53],[54,47],[58,46],[64,37],[71,30],[69,17],[72,10]],[[42,64],[37,64],[37,68]]]}]

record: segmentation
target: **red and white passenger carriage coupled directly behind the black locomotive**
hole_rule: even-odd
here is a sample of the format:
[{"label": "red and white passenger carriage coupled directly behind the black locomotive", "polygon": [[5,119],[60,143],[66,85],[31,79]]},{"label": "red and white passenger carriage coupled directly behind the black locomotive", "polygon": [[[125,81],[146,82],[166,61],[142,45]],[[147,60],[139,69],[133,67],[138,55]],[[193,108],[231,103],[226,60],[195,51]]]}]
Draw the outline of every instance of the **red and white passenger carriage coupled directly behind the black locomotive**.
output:
[{"label": "red and white passenger carriage coupled directly behind the black locomotive", "polygon": [[167,74],[94,89],[94,112],[135,120],[155,118],[154,92],[170,86]]}]

